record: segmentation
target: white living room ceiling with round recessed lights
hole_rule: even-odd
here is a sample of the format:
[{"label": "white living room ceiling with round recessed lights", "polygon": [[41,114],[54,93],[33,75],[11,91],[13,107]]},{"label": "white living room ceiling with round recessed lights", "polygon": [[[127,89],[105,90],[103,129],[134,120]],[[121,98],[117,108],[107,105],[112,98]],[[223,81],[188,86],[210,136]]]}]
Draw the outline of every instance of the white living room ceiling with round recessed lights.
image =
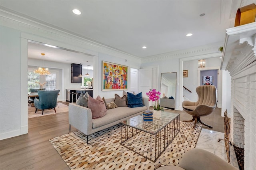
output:
[{"label": "white living room ceiling with round recessed lights", "polygon": [[[0,6],[2,10],[144,58],[224,42],[226,29],[234,27],[237,9],[252,3],[256,0],[1,0]],[[74,8],[82,14],[73,14]],[[205,15],[200,17],[202,13]],[[186,37],[188,33],[193,36]],[[29,57],[40,55],[42,47],[37,45],[29,44]],[[146,49],[142,49],[144,45]],[[44,50],[46,59],[48,53],[48,58],[54,53],[50,48]],[[72,59],[64,58],[64,54],[59,58],[54,55],[62,61]]]}]

